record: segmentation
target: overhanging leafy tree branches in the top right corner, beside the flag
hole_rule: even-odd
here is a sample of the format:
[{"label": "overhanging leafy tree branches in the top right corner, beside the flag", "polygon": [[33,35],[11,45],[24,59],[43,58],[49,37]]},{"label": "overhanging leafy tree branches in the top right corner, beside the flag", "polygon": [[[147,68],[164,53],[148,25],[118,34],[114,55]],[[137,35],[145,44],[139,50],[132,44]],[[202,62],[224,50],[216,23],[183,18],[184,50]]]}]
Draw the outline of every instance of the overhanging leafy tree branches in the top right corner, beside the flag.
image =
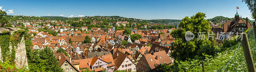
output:
[{"label": "overhanging leafy tree branches in the top right corner, beside the flag", "polygon": [[256,0],[242,0],[242,2],[245,2],[247,4],[249,10],[252,12],[252,19],[256,20]]}]

